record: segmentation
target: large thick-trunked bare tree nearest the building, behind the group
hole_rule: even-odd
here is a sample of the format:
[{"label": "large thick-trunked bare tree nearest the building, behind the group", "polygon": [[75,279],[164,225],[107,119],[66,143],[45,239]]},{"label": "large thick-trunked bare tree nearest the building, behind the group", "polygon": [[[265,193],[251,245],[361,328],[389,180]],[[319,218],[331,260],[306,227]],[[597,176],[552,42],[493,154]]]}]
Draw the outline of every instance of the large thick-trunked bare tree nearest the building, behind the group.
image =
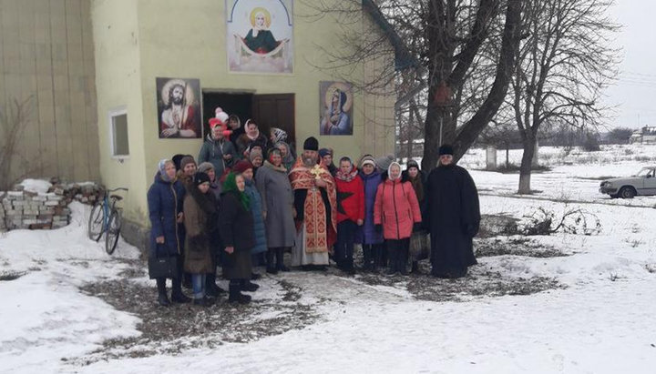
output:
[{"label": "large thick-trunked bare tree nearest the building, behind the group", "polygon": [[[382,90],[395,84],[400,97],[425,90],[425,144],[422,167],[436,166],[437,148],[453,144],[465,154],[504,101],[515,69],[522,8],[527,0],[313,0],[316,15],[332,15],[343,25],[342,41],[323,49],[320,68],[346,76],[363,61],[395,54],[396,69],[415,67],[414,80],[400,82],[393,69],[356,82]],[[381,32],[363,31],[363,7]],[[375,15],[382,15],[381,17]],[[392,43],[390,43],[390,40]],[[486,45],[495,45],[487,47]],[[490,52],[492,51],[492,52]],[[404,101],[404,100],[400,100]],[[407,100],[409,101],[409,99]],[[410,111],[407,112],[409,116]],[[417,114],[415,113],[414,116]]]}]

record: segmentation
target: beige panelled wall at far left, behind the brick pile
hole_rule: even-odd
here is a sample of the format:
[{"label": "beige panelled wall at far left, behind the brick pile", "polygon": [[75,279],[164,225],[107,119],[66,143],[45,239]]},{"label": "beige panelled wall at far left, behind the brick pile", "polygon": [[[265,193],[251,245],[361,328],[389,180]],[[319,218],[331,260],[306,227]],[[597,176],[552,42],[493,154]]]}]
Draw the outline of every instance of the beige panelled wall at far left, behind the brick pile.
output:
[{"label": "beige panelled wall at far left, behind the brick pile", "polygon": [[89,0],[0,0],[0,108],[29,100],[11,176],[97,180]]}]

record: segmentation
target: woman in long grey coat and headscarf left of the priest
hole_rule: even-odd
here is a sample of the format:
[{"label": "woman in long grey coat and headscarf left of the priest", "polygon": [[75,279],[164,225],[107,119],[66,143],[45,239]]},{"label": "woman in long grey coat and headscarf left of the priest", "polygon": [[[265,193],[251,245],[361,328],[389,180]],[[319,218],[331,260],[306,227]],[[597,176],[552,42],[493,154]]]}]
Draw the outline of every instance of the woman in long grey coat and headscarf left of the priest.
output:
[{"label": "woman in long grey coat and headscarf left of the priest", "polygon": [[[258,169],[255,183],[262,197],[262,213],[266,224],[267,272],[276,274],[289,271],[284,266],[284,250],[294,244],[296,227],[293,221],[293,190],[287,176],[287,169],[282,165],[280,149],[269,150],[269,157]],[[273,257],[276,264],[273,264]]]}]

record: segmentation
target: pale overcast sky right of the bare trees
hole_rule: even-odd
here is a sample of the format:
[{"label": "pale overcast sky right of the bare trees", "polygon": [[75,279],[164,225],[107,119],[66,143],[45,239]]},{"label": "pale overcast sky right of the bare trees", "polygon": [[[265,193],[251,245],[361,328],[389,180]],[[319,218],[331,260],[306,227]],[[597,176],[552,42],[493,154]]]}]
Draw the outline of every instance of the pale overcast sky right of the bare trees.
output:
[{"label": "pale overcast sky right of the bare trees", "polygon": [[656,126],[656,1],[616,0],[611,16],[622,25],[620,76],[606,102],[618,106],[610,127]]}]

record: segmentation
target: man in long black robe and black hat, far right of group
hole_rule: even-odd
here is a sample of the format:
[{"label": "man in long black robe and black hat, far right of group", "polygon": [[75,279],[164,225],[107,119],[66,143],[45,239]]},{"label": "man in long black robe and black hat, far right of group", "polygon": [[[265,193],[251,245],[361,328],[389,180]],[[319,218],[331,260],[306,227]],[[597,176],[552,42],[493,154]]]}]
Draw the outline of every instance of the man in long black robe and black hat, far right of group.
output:
[{"label": "man in long black robe and black hat, far right of group", "polygon": [[439,148],[439,165],[428,176],[425,222],[431,234],[431,274],[461,278],[476,265],[472,239],[478,233],[480,209],[474,180],[454,165],[453,147]]}]

